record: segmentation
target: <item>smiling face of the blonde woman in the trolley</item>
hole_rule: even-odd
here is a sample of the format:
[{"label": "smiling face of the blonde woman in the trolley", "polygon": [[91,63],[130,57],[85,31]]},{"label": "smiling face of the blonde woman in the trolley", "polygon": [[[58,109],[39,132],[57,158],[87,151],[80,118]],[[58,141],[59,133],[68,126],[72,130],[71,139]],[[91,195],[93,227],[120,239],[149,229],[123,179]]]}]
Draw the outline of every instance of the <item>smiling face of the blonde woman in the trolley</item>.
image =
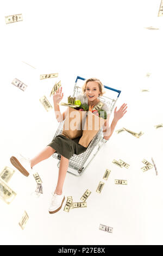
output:
[{"label": "smiling face of the blonde woman in the trolley", "polygon": [[97,97],[101,93],[99,91],[98,83],[94,82],[94,81],[87,82],[86,88],[85,88],[85,93],[86,93],[87,98],[90,101],[97,99]]}]

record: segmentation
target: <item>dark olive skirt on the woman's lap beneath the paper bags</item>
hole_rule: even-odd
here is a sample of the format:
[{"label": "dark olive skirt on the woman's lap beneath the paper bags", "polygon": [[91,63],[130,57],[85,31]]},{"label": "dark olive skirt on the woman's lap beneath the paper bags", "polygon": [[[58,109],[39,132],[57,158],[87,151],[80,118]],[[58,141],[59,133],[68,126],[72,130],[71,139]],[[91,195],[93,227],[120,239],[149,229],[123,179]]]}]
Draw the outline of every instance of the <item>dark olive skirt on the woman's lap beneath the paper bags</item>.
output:
[{"label": "dark olive skirt on the woman's lap beneath the paper bags", "polygon": [[47,146],[52,147],[58,153],[67,159],[70,159],[73,154],[79,155],[86,151],[87,148],[78,144],[80,137],[76,139],[68,139],[64,135],[56,136]]}]

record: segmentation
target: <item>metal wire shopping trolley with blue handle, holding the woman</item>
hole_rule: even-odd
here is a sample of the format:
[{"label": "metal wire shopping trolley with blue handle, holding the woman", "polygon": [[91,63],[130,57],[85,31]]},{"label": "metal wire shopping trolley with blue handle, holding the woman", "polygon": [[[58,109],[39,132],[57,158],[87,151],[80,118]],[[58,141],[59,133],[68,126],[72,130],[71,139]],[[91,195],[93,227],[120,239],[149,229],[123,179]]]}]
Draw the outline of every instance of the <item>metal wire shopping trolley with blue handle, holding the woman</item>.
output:
[{"label": "metal wire shopping trolley with blue handle, holding the woman", "polygon": [[[73,97],[79,95],[82,92],[83,84],[82,84],[82,86],[81,85],[79,86],[79,85],[77,85],[77,83],[78,83],[78,81],[83,82],[83,80],[86,80],[86,78],[77,76],[76,82],[74,84]],[[116,90],[116,89],[110,88],[108,86],[104,86],[104,88],[118,93],[118,96],[116,97],[116,99],[111,99],[110,97],[107,97],[107,96],[99,96],[99,100],[101,102],[106,103],[109,106],[110,112],[112,112],[112,109],[114,108],[116,101],[117,101],[118,97],[120,96],[121,90]],[[54,135],[54,138],[57,135],[60,135],[62,133],[64,122],[65,122],[65,120],[60,122],[57,132]],[[91,161],[97,155],[98,151],[101,149],[103,144],[106,142],[107,142],[106,139],[103,138],[103,127],[101,127],[101,129],[98,131],[96,136],[92,139],[91,143],[89,144],[89,147],[87,147],[87,150],[84,153],[82,153],[80,155],[76,155],[76,154],[72,155],[71,159],[69,160],[67,172],[72,173],[74,175],[78,175],[78,176],[82,175],[84,173],[84,171],[86,170],[86,168],[91,163]],[[57,166],[59,168],[60,158],[61,158],[60,154],[54,153],[52,156],[55,159],[59,159],[59,162],[57,164]]]}]

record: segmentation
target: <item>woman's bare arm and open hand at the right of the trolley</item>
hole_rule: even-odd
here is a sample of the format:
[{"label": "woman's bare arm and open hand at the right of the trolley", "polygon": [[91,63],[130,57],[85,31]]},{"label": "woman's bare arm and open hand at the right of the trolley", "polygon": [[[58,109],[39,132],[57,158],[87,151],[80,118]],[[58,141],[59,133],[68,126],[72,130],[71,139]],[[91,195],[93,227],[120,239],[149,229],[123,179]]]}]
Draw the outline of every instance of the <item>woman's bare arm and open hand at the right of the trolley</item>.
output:
[{"label": "woman's bare arm and open hand at the right of the trolley", "polygon": [[120,120],[123,115],[127,112],[127,104],[123,103],[123,105],[120,107],[120,109],[118,111],[117,110],[117,107],[115,107],[114,109],[114,119],[112,120],[112,123],[111,125],[109,126],[109,118],[106,119],[106,129],[103,130],[103,135],[104,135],[104,139],[108,140],[112,133],[114,132],[114,129],[118,123],[118,120]]}]

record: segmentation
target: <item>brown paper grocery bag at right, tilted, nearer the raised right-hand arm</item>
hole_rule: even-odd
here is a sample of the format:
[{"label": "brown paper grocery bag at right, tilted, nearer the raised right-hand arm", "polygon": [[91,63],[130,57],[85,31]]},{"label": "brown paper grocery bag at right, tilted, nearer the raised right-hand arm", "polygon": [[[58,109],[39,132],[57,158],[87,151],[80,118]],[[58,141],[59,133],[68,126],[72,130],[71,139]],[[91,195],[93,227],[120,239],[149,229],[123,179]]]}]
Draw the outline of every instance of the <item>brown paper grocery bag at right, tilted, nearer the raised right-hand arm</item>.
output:
[{"label": "brown paper grocery bag at right, tilted, nearer the raised right-hand arm", "polygon": [[79,140],[79,144],[87,148],[97,132],[104,125],[105,121],[106,119],[99,118],[97,115],[88,111],[86,121],[83,127],[83,135]]}]

